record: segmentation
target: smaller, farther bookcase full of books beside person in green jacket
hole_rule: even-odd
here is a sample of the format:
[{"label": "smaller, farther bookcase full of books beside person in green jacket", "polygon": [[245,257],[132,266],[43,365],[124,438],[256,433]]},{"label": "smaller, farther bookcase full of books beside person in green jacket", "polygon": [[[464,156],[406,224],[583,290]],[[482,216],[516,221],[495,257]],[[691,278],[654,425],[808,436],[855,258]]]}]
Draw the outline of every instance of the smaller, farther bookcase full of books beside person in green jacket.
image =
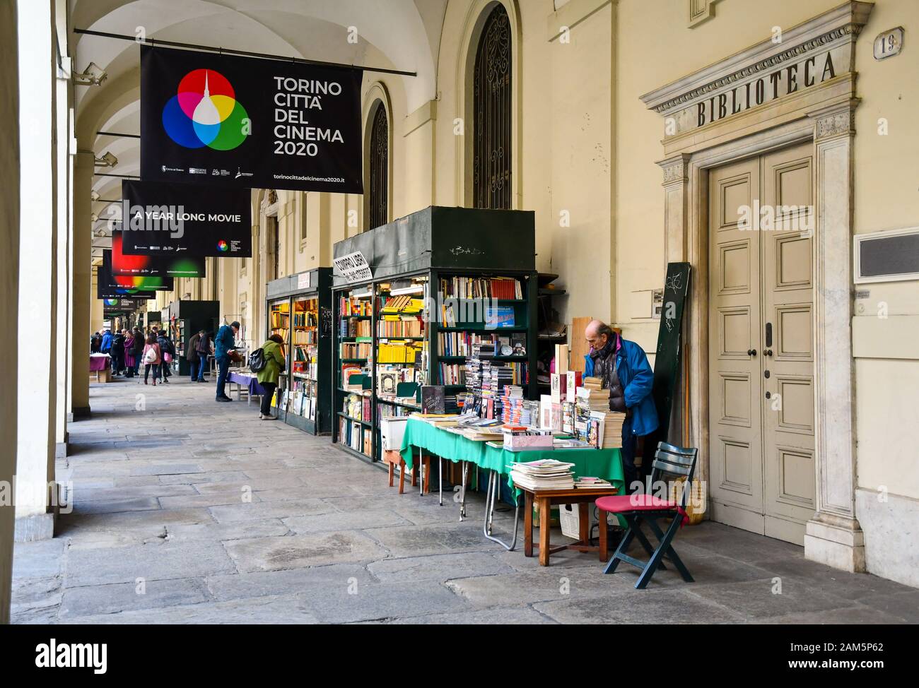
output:
[{"label": "smaller, farther bookcase full of books beside person in green jacket", "polygon": [[278,418],[311,434],[332,431],[327,376],[332,348],[331,268],[269,282],[268,333],[284,339],[287,365],[276,396]]}]

